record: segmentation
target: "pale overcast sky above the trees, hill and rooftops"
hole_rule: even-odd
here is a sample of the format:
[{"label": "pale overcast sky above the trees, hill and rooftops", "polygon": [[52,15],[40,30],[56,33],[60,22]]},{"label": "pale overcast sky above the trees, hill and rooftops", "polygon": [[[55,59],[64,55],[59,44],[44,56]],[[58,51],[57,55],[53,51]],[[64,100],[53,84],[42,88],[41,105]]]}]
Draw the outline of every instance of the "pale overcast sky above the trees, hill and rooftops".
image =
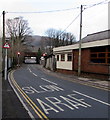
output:
[{"label": "pale overcast sky above the trees, hill and rooftops", "polygon": [[[76,8],[82,5],[91,5],[105,0],[0,0],[0,27],[2,27],[2,11],[6,11],[6,19],[23,16],[28,20],[29,26],[34,35],[45,35],[48,28],[64,30],[80,13],[80,8],[45,13],[39,12],[53,11],[69,8]],[[108,0],[109,1],[109,0]],[[84,6],[84,8],[87,6]],[[10,13],[21,12],[21,13]],[[78,17],[66,32],[72,32],[79,39],[80,17]],[[82,37],[87,34],[100,32],[108,29],[108,4],[100,4],[83,11]]]}]

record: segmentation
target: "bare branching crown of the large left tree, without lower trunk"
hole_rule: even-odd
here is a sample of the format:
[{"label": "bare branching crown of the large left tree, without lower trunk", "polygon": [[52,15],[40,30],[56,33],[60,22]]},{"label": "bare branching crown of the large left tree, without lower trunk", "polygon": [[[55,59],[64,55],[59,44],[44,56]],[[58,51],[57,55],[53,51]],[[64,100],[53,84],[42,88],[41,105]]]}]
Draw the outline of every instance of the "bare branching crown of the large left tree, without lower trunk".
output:
[{"label": "bare branching crown of the large left tree, without lower trunk", "polygon": [[32,31],[28,27],[28,21],[24,20],[23,17],[16,17],[14,19],[7,19],[7,32],[10,37],[18,39],[20,42],[24,42],[26,35],[30,35]]}]

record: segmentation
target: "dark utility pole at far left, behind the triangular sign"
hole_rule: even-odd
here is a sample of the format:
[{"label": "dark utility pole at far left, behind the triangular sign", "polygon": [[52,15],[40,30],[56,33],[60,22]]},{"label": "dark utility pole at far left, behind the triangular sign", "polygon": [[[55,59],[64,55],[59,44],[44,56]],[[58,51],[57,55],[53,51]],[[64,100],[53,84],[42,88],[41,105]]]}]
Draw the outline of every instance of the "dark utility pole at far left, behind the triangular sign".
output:
[{"label": "dark utility pole at far left, behind the triangular sign", "polygon": [[[3,37],[2,46],[5,44],[5,11],[3,11]],[[2,70],[5,70],[5,49],[2,49]]]}]

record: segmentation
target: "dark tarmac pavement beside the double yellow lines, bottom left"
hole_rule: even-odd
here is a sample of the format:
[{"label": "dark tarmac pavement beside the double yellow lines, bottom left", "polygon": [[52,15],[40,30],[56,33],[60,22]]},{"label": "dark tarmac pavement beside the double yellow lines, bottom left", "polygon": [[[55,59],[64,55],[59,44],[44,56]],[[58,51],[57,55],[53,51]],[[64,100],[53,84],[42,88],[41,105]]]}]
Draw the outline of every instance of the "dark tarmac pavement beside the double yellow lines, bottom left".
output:
[{"label": "dark tarmac pavement beside the double yellow lines, bottom left", "polygon": [[31,120],[8,80],[2,77],[2,120]]}]

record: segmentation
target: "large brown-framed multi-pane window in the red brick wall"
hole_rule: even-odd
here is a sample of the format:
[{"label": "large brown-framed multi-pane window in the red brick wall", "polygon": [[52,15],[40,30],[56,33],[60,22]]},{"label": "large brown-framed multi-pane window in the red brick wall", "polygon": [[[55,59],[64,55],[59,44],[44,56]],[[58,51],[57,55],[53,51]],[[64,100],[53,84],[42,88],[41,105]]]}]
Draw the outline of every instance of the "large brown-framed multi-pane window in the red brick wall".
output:
[{"label": "large brown-framed multi-pane window in the red brick wall", "polygon": [[92,63],[110,63],[110,51],[108,47],[96,47],[90,50],[90,60]]}]

